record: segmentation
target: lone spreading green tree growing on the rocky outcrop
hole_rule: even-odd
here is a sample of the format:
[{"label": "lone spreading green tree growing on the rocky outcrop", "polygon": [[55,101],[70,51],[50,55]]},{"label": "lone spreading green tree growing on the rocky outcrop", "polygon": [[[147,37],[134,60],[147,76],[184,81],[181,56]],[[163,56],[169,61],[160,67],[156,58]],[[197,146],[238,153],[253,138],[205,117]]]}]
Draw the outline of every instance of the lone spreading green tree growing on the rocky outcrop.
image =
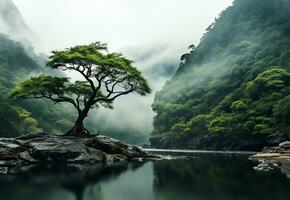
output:
[{"label": "lone spreading green tree growing on the rocky outcrop", "polygon": [[88,135],[83,121],[96,107],[112,108],[113,101],[129,93],[145,96],[151,92],[146,79],[122,54],[109,53],[107,45],[96,42],[63,51],[53,51],[47,66],[63,71],[75,71],[81,81],[67,77],[41,75],[22,81],[10,91],[12,99],[46,98],[55,103],[70,103],[78,112],[75,125],[66,133]]}]

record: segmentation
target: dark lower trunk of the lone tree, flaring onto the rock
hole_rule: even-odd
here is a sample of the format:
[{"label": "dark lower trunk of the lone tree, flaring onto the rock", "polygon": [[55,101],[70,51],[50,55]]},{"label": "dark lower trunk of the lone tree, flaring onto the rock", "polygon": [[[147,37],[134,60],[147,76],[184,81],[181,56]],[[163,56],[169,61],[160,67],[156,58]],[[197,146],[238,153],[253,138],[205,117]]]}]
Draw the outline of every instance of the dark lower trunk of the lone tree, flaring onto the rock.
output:
[{"label": "dark lower trunk of the lone tree, flaring onto the rock", "polygon": [[84,119],[87,117],[87,112],[83,112],[79,114],[79,117],[75,123],[75,125],[66,132],[66,136],[75,136],[75,137],[84,137],[88,136],[90,133],[89,131],[84,127]]}]

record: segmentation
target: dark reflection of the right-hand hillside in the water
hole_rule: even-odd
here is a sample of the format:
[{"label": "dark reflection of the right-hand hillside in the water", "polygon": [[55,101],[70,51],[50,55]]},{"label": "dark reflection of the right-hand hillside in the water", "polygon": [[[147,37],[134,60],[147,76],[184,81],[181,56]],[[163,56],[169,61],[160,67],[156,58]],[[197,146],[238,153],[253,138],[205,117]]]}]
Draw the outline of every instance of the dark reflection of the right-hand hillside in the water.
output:
[{"label": "dark reflection of the right-hand hillside in the water", "polygon": [[255,165],[245,155],[214,154],[156,162],[155,199],[289,199],[290,180],[278,168]]}]

